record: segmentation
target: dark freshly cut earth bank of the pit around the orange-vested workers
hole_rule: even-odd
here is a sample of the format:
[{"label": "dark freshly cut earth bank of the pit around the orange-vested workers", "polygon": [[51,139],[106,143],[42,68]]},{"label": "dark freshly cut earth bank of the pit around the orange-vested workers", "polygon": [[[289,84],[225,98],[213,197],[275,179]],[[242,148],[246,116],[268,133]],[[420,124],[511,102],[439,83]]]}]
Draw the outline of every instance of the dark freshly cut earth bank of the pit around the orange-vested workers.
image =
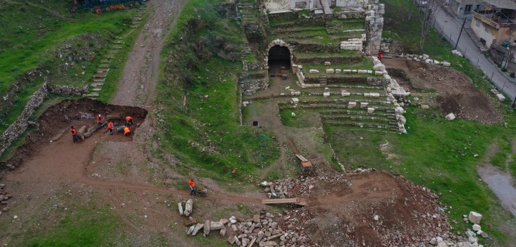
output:
[{"label": "dark freshly cut earth bank of the pit around the orange-vested workers", "polygon": [[[85,116],[93,117],[98,114],[104,117],[107,115],[111,117],[116,116],[116,119],[113,120],[115,126],[125,124],[125,116],[131,116],[133,117],[134,125],[130,129],[131,132],[135,132],[145,117],[147,117],[147,110],[134,106],[104,104],[93,99],[65,100],[45,110],[39,119],[32,124],[37,130],[28,134],[25,137],[25,144],[17,148],[10,160],[3,164],[0,163],[0,167],[5,167],[7,164],[14,167],[19,166],[24,158],[36,154],[44,143],[52,139],[70,138],[72,143],[72,138],[69,135],[70,126],[76,126],[78,130],[80,126],[96,125],[94,118]],[[114,134],[109,139],[111,141],[131,141],[132,137],[127,138],[123,134]],[[56,154],[56,156],[58,155]]]}]

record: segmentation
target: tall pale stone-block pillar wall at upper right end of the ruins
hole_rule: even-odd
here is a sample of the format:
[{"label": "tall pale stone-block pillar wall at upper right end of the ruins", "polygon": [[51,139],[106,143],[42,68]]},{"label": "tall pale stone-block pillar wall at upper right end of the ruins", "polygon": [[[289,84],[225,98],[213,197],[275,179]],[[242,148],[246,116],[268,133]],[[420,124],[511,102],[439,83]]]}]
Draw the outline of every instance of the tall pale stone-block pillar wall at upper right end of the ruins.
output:
[{"label": "tall pale stone-block pillar wall at upper right end of the ruins", "polygon": [[369,8],[369,13],[366,12],[365,17],[367,25],[365,54],[367,56],[373,56],[378,54],[380,43],[382,42],[385,5],[383,5],[383,3],[378,4],[378,0],[372,0],[369,2],[369,5],[367,5],[367,8]]}]

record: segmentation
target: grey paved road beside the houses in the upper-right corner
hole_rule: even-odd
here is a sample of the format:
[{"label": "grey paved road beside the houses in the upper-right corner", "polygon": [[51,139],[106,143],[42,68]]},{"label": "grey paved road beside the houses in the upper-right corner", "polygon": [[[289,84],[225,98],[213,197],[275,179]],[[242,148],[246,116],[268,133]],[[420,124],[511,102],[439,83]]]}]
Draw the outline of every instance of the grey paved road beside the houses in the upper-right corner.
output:
[{"label": "grey paved road beside the houses in the upper-right corner", "polygon": [[[449,40],[451,34],[450,44],[455,47],[455,43],[460,33],[460,27],[464,19],[458,19],[457,17],[449,14],[442,10],[436,16],[436,22],[434,27],[440,34]],[[471,24],[471,20],[466,21],[466,26]],[[466,58],[473,64],[477,64],[477,67],[484,71],[484,74],[491,79],[493,75],[493,83],[497,86],[499,91],[504,89],[504,94],[508,96],[508,99],[513,101],[516,97],[516,79],[510,78],[506,73],[500,71],[498,67],[477,47],[475,41],[471,38],[472,34],[462,32],[459,40],[458,50],[465,54]],[[476,38],[475,38],[476,39]],[[465,51],[465,52],[464,52]],[[494,73],[493,73],[494,71]],[[504,86],[505,84],[505,86]]]}]

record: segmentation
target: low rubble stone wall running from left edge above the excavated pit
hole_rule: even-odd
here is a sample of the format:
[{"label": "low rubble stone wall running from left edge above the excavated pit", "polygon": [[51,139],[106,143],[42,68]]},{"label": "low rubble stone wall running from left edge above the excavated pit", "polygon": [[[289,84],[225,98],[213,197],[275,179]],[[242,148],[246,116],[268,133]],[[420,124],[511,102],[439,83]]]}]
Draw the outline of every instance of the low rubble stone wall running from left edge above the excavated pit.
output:
[{"label": "low rubble stone wall running from left edge above the excavated pit", "polygon": [[41,86],[36,93],[32,94],[25,108],[21,112],[14,123],[12,123],[5,132],[0,136],[0,155],[6,152],[6,149],[11,145],[12,141],[17,139],[29,126],[29,118],[34,113],[34,110],[43,103],[43,99],[47,97],[48,93],[56,93],[58,95],[82,95],[87,92],[88,86],[82,88],[76,88],[73,86],[51,86],[46,82]]}]

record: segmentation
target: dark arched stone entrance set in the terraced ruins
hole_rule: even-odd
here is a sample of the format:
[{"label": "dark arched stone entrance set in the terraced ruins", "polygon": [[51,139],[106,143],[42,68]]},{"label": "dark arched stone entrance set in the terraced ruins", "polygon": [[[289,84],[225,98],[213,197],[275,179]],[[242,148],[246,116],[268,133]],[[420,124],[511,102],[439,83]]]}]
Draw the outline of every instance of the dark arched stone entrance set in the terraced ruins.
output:
[{"label": "dark arched stone entrance set in the terraced ruins", "polygon": [[267,67],[269,73],[281,73],[281,69],[292,69],[292,49],[283,40],[274,40],[269,45]]}]

